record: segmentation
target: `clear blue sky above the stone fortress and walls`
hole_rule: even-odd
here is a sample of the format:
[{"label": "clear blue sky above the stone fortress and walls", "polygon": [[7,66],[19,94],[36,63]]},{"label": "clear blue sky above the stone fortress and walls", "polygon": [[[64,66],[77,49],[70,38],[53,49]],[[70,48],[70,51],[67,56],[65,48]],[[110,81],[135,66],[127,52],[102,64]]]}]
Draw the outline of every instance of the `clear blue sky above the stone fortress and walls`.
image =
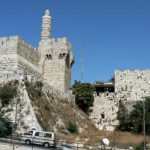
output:
[{"label": "clear blue sky above the stone fortress and walls", "polygon": [[72,81],[107,81],[114,70],[149,69],[149,0],[1,0],[0,37],[19,35],[38,46],[41,17],[49,8],[52,37],[73,45]]}]

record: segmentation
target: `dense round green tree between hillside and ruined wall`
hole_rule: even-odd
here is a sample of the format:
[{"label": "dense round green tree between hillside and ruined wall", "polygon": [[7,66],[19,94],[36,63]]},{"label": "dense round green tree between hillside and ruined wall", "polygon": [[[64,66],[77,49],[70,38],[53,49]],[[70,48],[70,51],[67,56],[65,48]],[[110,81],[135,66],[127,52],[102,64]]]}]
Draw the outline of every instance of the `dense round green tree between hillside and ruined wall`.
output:
[{"label": "dense round green tree between hillside and ruined wall", "polygon": [[73,94],[75,95],[76,104],[85,113],[89,113],[89,108],[93,106],[94,102],[94,88],[90,83],[81,83],[75,81],[73,87]]}]

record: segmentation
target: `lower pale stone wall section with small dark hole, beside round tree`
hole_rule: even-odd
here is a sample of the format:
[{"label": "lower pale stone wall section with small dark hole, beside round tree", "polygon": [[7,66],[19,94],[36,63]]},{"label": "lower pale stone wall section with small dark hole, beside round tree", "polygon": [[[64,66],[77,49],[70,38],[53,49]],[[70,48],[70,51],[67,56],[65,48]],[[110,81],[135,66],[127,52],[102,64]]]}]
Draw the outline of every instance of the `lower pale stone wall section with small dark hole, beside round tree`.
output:
[{"label": "lower pale stone wall section with small dark hole, beside round tree", "polygon": [[114,93],[94,94],[94,104],[90,118],[99,130],[113,130],[112,126],[118,124],[116,120],[117,111],[118,103]]}]

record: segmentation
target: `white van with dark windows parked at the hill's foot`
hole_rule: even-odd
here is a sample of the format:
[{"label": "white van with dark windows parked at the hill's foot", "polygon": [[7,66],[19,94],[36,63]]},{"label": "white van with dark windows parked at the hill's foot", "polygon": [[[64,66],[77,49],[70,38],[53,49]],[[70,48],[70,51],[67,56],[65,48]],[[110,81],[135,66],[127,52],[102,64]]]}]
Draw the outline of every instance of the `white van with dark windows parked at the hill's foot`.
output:
[{"label": "white van with dark windows parked at the hill's foot", "polygon": [[44,147],[56,147],[56,135],[54,132],[31,130],[22,134],[22,140],[26,144],[39,144]]}]

